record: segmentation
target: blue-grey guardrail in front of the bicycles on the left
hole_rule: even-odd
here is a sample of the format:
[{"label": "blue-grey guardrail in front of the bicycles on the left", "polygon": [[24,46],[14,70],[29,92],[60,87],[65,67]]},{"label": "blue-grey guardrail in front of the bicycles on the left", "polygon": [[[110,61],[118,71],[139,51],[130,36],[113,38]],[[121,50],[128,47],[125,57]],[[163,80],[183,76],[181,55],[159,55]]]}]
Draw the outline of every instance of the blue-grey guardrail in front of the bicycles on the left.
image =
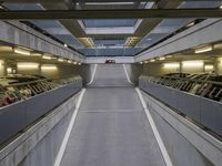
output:
[{"label": "blue-grey guardrail in front of the bicycles on the left", "polygon": [[[28,85],[33,83],[36,82],[29,82]],[[18,87],[20,85],[24,84],[9,86]],[[4,143],[12,136],[16,136],[20,131],[24,129],[52,108],[78,93],[81,89],[82,79],[78,76],[69,84],[63,84],[57,87],[51,86],[51,90],[34,94],[30,97],[24,97],[21,93],[17,94],[18,96],[21,95],[20,101],[0,107],[0,144]]]}]

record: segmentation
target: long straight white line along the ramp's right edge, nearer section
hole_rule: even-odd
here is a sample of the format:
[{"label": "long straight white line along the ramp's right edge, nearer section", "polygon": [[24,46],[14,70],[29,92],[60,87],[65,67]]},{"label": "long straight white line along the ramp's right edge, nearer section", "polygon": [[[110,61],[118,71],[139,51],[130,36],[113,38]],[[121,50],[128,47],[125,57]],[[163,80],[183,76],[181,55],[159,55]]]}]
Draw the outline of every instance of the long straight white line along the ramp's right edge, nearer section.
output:
[{"label": "long straight white line along the ramp's right edge, nearer section", "polygon": [[164,158],[164,160],[165,160],[165,165],[167,165],[167,166],[173,166],[173,164],[172,164],[172,162],[171,162],[171,158],[170,158],[170,156],[169,156],[169,154],[168,154],[168,151],[167,151],[167,148],[165,148],[165,145],[164,145],[164,143],[163,143],[161,136],[160,136],[160,133],[158,132],[158,128],[157,128],[157,126],[155,126],[155,123],[154,123],[154,121],[153,121],[153,118],[152,118],[152,115],[150,114],[150,111],[149,111],[149,108],[147,107],[145,101],[144,101],[144,98],[143,98],[143,96],[142,96],[142,94],[141,94],[141,92],[140,92],[140,90],[139,90],[138,87],[135,87],[135,91],[138,92],[138,95],[139,95],[139,97],[140,97],[140,101],[141,101],[141,103],[142,103],[142,106],[143,106],[143,108],[144,108],[144,111],[145,111],[148,121],[149,121],[149,123],[150,123],[150,125],[151,125],[151,127],[152,127],[152,131],[153,131],[153,133],[154,133],[154,136],[155,136],[155,138],[157,138],[157,141],[158,141],[160,151],[161,151],[161,153],[162,153],[162,155],[163,155],[163,158]]}]

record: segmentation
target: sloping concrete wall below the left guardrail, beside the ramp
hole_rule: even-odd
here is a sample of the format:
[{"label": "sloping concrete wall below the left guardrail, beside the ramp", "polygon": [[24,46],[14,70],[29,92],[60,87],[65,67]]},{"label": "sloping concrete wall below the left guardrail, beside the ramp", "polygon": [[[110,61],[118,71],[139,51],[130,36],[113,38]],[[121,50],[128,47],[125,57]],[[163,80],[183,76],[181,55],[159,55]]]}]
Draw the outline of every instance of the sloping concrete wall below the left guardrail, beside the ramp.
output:
[{"label": "sloping concrete wall below the left guardrail, beside the ramp", "polygon": [[79,93],[4,145],[0,166],[53,165],[78,97]]}]

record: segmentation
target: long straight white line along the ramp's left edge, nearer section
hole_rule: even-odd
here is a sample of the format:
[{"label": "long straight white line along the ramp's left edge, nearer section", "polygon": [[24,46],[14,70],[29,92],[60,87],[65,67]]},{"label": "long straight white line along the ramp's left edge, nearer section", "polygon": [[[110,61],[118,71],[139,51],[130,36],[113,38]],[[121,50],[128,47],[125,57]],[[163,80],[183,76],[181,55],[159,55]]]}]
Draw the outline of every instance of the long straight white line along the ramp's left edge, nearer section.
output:
[{"label": "long straight white line along the ramp's left edge, nearer section", "polygon": [[75,118],[77,118],[77,114],[79,112],[79,108],[80,108],[80,104],[82,102],[82,97],[84,95],[84,92],[85,92],[85,89],[82,89],[81,91],[81,94],[79,96],[79,100],[77,102],[77,106],[75,106],[75,110],[72,114],[72,117],[71,117],[71,121],[69,123],[69,126],[68,126],[68,129],[65,132],[65,135],[64,135],[64,138],[62,141],[62,144],[60,146],[60,149],[59,149],[59,153],[57,155],[57,158],[56,158],[56,162],[54,162],[54,166],[60,166],[60,163],[62,160],[62,157],[63,157],[63,154],[64,154],[64,151],[65,151],[65,147],[67,147],[67,144],[68,144],[68,141],[69,141],[69,137],[70,137],[70,134],[71,134],[71,131],[72,131],[72,127],[74,125],[74,122],[75,122]]}]

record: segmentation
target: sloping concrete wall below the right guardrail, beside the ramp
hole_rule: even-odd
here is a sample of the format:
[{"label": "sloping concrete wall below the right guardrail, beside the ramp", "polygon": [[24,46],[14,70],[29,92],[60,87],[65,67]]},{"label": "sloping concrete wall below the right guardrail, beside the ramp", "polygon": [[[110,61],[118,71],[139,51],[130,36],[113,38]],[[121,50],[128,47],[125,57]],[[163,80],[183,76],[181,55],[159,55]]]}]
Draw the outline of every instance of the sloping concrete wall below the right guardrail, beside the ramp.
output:
[{"label": "sloping concrete wall below the right guardrail, beside the ramp", "polygon": [[173,165],[221,165],[220,141],[147,93],[142,94]]}]

